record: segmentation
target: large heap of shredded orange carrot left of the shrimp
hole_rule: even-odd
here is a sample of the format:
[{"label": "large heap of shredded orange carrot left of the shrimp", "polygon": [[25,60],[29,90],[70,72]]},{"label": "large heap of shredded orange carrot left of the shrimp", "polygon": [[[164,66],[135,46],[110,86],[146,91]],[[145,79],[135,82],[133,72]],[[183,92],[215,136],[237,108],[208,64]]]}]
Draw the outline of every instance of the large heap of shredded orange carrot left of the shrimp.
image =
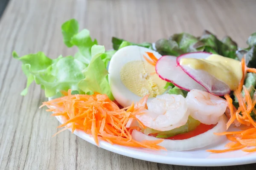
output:
[{"label": "large heap of shredded orange carrot left of the shrimp", "polygon": [[[131,132],[134,129],[140,130],[140,127],[125,127],[130,118],[136,119],[136,114],[143,113],[148,95],[136,105],[133,103],[123,109],[120,109],[105,94],[71,95],[71,90],[69,90],[65,95],[67,96],[43,102],[43,105],[41,105],[41,107],[47,106],[49,108],[47,111],[53,111],[52,116],[62,116],[64,123],[58,127],[64,128],[56,134],[71,128],[72,133],[75,130],[83,130],[85,133],[92,135],[98,146],[99,139],[102,139],[111,144],[166,150],[164,147],[157,145],[163,142],[163,139],[138,142],[132,139]],[[139,124],[141,127],[145,127],[141,122]]]}]

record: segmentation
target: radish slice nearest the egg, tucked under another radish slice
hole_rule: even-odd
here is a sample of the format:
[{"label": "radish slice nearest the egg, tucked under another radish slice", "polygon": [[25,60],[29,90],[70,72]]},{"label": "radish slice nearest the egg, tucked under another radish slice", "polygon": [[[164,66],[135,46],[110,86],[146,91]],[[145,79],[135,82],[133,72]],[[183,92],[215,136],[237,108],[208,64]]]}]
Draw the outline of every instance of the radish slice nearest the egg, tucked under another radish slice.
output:
[{"label": "radish slice nearest the egg, tucked under another radish slice", "polygon": [[158,76],[167,82],[172,82],[175,86],[185,91],[192,89],[207,91],[202,85],[198,84],[198,82],[189,77],[177,66],[176,58],[175,56],[163,56],[158,59],[156,64]]}]

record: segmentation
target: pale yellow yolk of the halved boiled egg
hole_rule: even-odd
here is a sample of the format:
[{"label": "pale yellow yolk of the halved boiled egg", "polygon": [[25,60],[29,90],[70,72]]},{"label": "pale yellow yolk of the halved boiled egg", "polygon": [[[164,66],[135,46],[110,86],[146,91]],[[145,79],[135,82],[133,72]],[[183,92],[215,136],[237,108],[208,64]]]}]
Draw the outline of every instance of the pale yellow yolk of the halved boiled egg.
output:
[{"label": "pale yellow yolk of the halved boiled egg", "polygon": [[163,94],[166,81],[155,73],[153,65],[145,61],[131,61],[126,63],[120,72],[122,83],[138,96],[156,97]]}]

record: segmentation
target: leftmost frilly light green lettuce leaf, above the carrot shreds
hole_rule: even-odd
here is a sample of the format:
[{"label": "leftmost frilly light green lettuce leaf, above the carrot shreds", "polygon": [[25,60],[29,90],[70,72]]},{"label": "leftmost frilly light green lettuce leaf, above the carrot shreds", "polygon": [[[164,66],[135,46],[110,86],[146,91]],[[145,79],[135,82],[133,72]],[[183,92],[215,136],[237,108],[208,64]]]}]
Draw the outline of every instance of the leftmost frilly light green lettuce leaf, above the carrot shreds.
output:
[{"label": "leftmost frilly light green lettuce leaf, above the carrot shreds", "polygon": [[41,85],[46,97],[55,96],[58,92],[68,89],[81,92],[78,82],[84,78],[82,70],[85,65],[72,56],[50,59],[43,52],[38,52],[18,57],[14,51],[13,57],[22,62],[22,70],[27,77],[27,85],[21,95],[27,94],[33,81]]}]

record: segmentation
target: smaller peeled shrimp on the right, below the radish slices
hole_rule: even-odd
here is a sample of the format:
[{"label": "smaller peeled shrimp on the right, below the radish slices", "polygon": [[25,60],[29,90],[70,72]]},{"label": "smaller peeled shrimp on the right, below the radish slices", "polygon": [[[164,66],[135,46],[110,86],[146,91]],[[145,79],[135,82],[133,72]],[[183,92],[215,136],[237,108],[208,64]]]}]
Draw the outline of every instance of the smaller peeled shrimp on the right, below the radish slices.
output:
[{"label": "smaller peeled shrimp on the right, below the radish slices", "polygon": [[190,115],[201,123],[216,124],[227,108],[227,101],[205,91],[192,90],[186,96]]}]

